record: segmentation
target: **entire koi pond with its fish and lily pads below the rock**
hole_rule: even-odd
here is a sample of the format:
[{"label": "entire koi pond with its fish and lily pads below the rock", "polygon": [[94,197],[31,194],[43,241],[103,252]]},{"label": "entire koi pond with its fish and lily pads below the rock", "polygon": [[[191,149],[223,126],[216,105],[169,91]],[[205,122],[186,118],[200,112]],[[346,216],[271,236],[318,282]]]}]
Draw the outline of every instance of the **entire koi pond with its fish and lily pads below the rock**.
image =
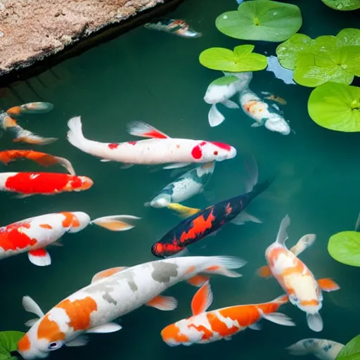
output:
[{"label": "entire koi pond with its fish and lily pads below the rock", "polygon": [[[241,18],[245,19],[246,13],[241,14],[240,9],[255,2],[278,4],[274,18],[284,11],[281,6],[285,4],[298,9],[288,8],[276,26],[271,25],[269,18],[259,16],[253,23],[259,28],[251,30],[246,27],[247,20]],[[337,1],[326,2],[332,5]],[[318,355],[335,360],[342,348],[336,343],[345,345],[359,334],[356,266],[360,266],[360,239],[355,231],[360,210],[356,133],[360,131],[360,10],[353,2],[354,10],[342,11],[321,0],[248,0],[240,6],[236,0],[186,0],[167,17],[184,20],[190,29],[184,30],[181,22],[174,25],[177,34],[159,31],[163,29],[161,23],[153,29],[148,25],[137,27],[37,77],[2,89],[0,108],[15,108],[0,119],[4,129],[0,150],[34,150],[53,155],[41,159],[34,153],[0,156],[4,162],[0,163],[0,187],[4,190],[0,193],[4,226],[0,233],[0,258],[7,257],[2,259],[0,271],[0,330],[26,333],[33,326],[18,347],[25,359],[49,354],[51,360],[182,360],[219,356],[288,360],[302,354],[302,359]],[[236,15],[237,9],[240,15]],[[237,27],[242,21],[244,27]],[[172,26],[169,22],[164,24]],[[45,111],[32,110],[30,105],[18,108],[26,103],[50,103],[53,108],[49,104],[43,104]],[[46,141],[41,144],[42,138]],[[148,142],[141,142],[143,139]],[[113,154],[120,154],[120,160]],[[10,161],[23,155],[27,160]],[[4,175],[66,174],[67,170],[70,175],[66,181],[61,180],[65,182],[60,187],[54,185],[60,180],[53,176],[43,179],[41,174],[27,174],[10,181],[14,174]],[[184,175],[190,170],[191,175]],[[179,178],[181,175],[184,176]],[[37,186],[47,189],[33,191],[40,195],[32,195],[29,190],[29,181],[36,178],[40,184]],[[175,184],[170,184],[173,181]],[[16,190],[19,188],[23,190]],[[174,194],[176,191],[178,195]],[[249,191],[250,198],[236,198],[199,212]],[[236,205],[239,201],[241,208]],[[6,228],[16,221],[59,212],[66,214],[60,218],[41,217],[20,230],[21,224],[11,228],[17,231],[16,240]],[[87,215],[75,219],[77,215],[68,212]],[[297,247],[286,252],[281,262],[282,255],[269,250],[265,257],[265,251],[277,236],[277,245],[284,250],[285,235],[279,226],[286,214],[290,226],[285,246]],[[191,222],[181,223],[191,216]],[[228,221],[230,224],[225,224]],[[57,229],[58,240],[55,243],[56,239],[43,236],[46,251],[27,248],[28,253],[23,250],[8,257],[9,251],[16,252],[32,241],[40,241],[32,226],[41,231]],[[170,232],[172,229],[174,232]],[[302,238],[307,234],[310,236]],[[335,234],[338,235],[334,238]],[[192,244],[196,237],[199,241]],[[21,245],[21,241],[26,244]],[[347,241],[350,245],[346,245]],[[349,248],[354,250],[353,256],[347,255]],[[315,280],[309,285],[309,280],[304,285],[306,289],[301,285],[302,298],[296,290],[297,280],[291,277],[296,274],[288,280],[283,275],[295,270],[281,268],[290,259],[297,261],[294,254],[299,255],[301,262],[294,263],[294,268],[289,265],[291,269],[300,271],[301,277],[308,274],[309,268],[314,274],[309,273],[309,279],[322,279],[319,285]],[[154,266],[151,277],[150,268],[144,268],[140,274],[127,273],[131,295],[123,300],[129,287],[117,289],[123,315],[101,321],[113,311],[110,305],[117,306],[110,296],[117,291],[112,288],[116,288],[116,281],[101,283],[101,278],[114,276],[121,269],[98,273],[117,266],[160,261],[162,255],[175,263],[179,256],[175,274],[166,266],[161,274],[160,267]],[[207,266],[201,265],[203,271],[195,260],[186,263],[185,270],[180,265],[188,257],[211,256],[238,257],[246,264],[241,260],[208,262]],[[270,269],[262,267],[266,263]],[[278,269],[283,272],[276,278],[266,278]],[[194,277],[187,275],[189,271],[195,271]],[[232,278],[236,276],[233,271],[242,276]],[[164,285],[180,273],[183,278],[176,281],[179,284],[171,288]],[[209,309],[211,296],[201,293],[197,293],[191,306],[196,286],[205,283],[201,289],[209,290],[205,273],[210,276],[213,293]],[[93,279],[95,274],[98,275]],[[189,279],[192,284],[182,281]],[[69,297],[91,281],[99,281],[98,291],[104,291],[102,303],[93,300],[93,295]],[[143,301],[148,306],[132,311],[131,304],[140,301],[139,284],[150,286],[151,281],[161,283],[165,291],[153,293],[153,300],[150,297]],[[311,297],[312,290],[316,299]],[[160,293],[165,297],[157,297]],[[251,307],[231,309],[234,314],[243,311],[248,319],[243,326],[250,326],[236,335],[234,331],[229,333],[229,328],[240,327],[241,321],[231,320],[235,321],[231,325],[230,315],[226,318],[221,312],[212,313],[218,323],[211,323],[211,316],[206,321],[201,318],[205,310],[271,302],[285,293],[290,302],[284,300],[288,303],[278,310],[283,316],[274,315],[278,314],[273,313],[277,309],[267,314],[265,307],[261,311],[256,307],[258,319],[251,322]],[[25,295],[39,308],[25,298],[30,312],[25,311]],[[321,303],[321,296],[319,314],[323,326],[316,318],[317,310],[313,311],[315,315],[311,313],[312,307]],[[82,301],[86,301],[86,306],[82,307]],[[79,303],[70,306],[70,302]],[[51,310],[53,307],[56,309]],[[49,310],[52,312],[45,316],[48,323],[39,325],[35,319],[25,325],[34,317],[43,319]],[[180,325],[168,330],[166,336],[166,331],[162,333],[166,326],[192,314],[199,316],[192,326],[193,332],[200,333],[201,341],[214,336],[224,340],[168,346],[181,341],[184,345],[197,342],[191,338],[196,335],[188,330],[191,326],[182,337],[179,334],[184,329]],[[61,323],[60,318],[65,322]],[[222,325],[219,321],[223,321]],[[85,338],[82,333],[93,322],[94,329]],[[72,335],[68,337],[70,328]],[[304,339],[330,341],[310,340],[293,347],[293,351],[286,349]],[[357,346],[354,356],[359,356],[359,343]],[[11,354],[21,359],[19,353]],[[0,359],[9,359],[8,356],[0,352]]]}]

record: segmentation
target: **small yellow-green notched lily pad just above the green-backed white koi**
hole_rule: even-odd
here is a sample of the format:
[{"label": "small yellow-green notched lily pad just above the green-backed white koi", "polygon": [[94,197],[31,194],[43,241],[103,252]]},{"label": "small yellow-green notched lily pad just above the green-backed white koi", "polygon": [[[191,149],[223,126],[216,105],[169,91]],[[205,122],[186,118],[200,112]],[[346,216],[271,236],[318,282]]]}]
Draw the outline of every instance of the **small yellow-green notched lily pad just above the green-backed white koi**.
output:
[{"label": "small yellow-green notched lily pad just above the green-backed white koi", "polygon": [[[259,0],[260,1],[260,0]],[[254,45],[236,46],[233,51],[224,48],[210,48],[200,53],[200,64],[212,70],[247,72],[264,70],[266,56],[252,53]]]}]

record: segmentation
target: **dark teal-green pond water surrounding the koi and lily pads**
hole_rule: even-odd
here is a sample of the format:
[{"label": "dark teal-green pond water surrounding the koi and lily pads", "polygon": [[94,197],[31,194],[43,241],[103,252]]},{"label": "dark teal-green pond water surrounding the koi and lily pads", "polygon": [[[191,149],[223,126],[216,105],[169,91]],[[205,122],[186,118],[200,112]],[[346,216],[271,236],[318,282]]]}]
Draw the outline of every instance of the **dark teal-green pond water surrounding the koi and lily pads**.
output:
[{"label": "dark teal-green pond water surrounding the koi and lily pads", "polygon": [[[300,6],[304,17],[300,32],[310,37],[337,34],[342,28],[359,26],[359,11],[333,11],[320,0],[293,3]],[[115,162],[99,162],[72,147],[65,139],[67,121],[81,115],[84,135],[97,141],[134,139],[127,134],[126,124],[143,120],[169,136],[222,141],[236,146],[236,158],[217,164],[205,196],[198,195],[185,205],[205,207],[243,193],[243,153],[250,151],[257,158],[260,180],[278,174],[271,188],[248,208],[251,214],[264,221],[263,224],[229,224],[217,236],[206,238],[191,249],[191,255],[236,255],[248,261],[240,271],[242,278],[213,278],[211,309],[265,302],[283,293],[276,281],[260,279],[255,271],[265,264],[264,251],[275,240],[280,221],[287,213],[292,219],[289,245],[295,244],[305,233],[316,233],[316,243],[301,258],[317,278],[334,278],[341,290],[324,293],[321,333],[311,332],[305,314],[288,304],[282,311],[294,319],[297,324],[294,328],[263,321],[261,331],[246,330],[229,342],[171,348],[162,342],[160,330],[190,315],[191,297],[195,293],[195,288],[181,283],[167,290],[167,295],[179,299],[175,311],[137,309],[123,316],[120,332],[92,335],[86,347],[63,347],[52,352],[51,359],[182,360],[197,356],[203,359],[219,359],[219,356],[289,359],[284,348],[302,338],[346,343],[359,333],[356,278],[359,270],[335,262],[326,250],[333,233],[354,229],[359,213],[359,135],[318,127],[307,114],[310,89],[286,85],[266,71],[254,74],[251,89],[256,93],[271,91],[285,98],[288,105],[283,108],[284,116],[290,120],[295,134],[282,136],[264,127],[251,128],[252,121],[242,110],[228,109],[224,110],[225,122],[210,128],[207,122],[210,105],[203,101],[203,96],[207,85],[220,73],[203,68],[198,63],[198,55],[208,47],[233,48],[242,44],[214,27],[217,15],[236,6],[235,0],[187,0],[171,16],[183,18],[195,30],[203,32],[200,39],[182,39],[139,27],[66,60],[51,72],[18,84],[14,89],[23,101],[14,93],[1,98],[1,108],[31,101],[53,103],[55,108],[51,113],[24,116],[20,124],[41,136],[59,137],[56,143],[36,149],[68,158],[77,174],[89,176],[95,183],[89,191],[53,197],[19,200],[2,193],[1,225],[60,211],[84,211],[92,219],[108,214],[132,214],[142,219],[130,231],[113,233],[89,226],[80,233],[65,235],[63,248],[49,248],[51,266],[34,266],[27,255],[4,259],[0,265],[0,308],[3,309],[0,330],[26,330],[23,324],[32,315],[21,306],[24,295],[30,295],[48,311],[87,285],[102,269],[155,259],[150,245],[179,222],[166,210],[143,207],[156,191],[173,181],[171,171],[141,166],[124,170]],[[276,44],[259,43],[255,51],[269,56],[275,54],[275,48]],[[0,141],[1,150],[15,148],[6,134]],[[44,169],[31,162],[18,161],[4,167],[3,171]]]}]

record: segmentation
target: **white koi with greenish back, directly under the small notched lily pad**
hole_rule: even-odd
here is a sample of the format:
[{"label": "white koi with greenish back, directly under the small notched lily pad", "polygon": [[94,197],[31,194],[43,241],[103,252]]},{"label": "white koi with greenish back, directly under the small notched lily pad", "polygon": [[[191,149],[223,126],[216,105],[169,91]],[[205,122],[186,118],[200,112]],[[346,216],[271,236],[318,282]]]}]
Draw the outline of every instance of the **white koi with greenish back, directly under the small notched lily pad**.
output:
[{"label": "white koi with greenish back, directly under the small notched lily pad", "polygon": [[229,100],[239,91],[248,86],[252,79],[252,72],[224,72],[226,76],[214,80],[209,86],[204,96],[205,103],[211,104],[208,120],[211,127],[217,127],[225,120],[217,109],[217,104],[221,103],[230,109],[238,109],[239,105]]}]

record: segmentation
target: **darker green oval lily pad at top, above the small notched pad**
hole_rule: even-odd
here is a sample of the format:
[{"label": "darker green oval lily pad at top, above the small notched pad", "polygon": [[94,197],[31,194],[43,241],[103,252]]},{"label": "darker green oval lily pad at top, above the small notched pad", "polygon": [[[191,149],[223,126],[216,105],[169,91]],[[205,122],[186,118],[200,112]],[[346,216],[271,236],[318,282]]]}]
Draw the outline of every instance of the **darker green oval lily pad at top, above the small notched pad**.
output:
[{"label": "darker green oval lily pad at top, above the small notched pad", "polygon": [[218,16],[215,25],[223,34],[235,39],[284,41],[302,25],[300,8],[278,1],[245,1],[237,11]]}]

